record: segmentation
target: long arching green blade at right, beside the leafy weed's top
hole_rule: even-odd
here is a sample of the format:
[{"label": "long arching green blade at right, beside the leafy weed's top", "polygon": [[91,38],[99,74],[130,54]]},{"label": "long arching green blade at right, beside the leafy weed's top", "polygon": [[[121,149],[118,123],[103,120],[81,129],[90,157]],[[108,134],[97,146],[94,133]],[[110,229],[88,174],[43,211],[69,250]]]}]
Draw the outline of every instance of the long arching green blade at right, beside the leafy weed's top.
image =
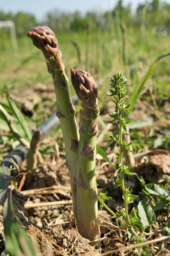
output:
[{"label": "long arching green blade at right, beside the leafy weed's top", "polygon": [[137,99],[140,97],[141,94],[141,89],[144,86],[144,83],[147,81],[147,79],[152,75],[153,71],[155,70],[159,60],[161,60],[162,58],[166,57],[170,55],[170,52],[165,54],[165,55],[161,55],[158,58],[156,58],[156,60],[153,62],[153,64],[150,65],[149,69],[147,70],[147,73],[144,75],[144,77],[142,78],[141,82],[138,84],[137,88],[135,88],[135,90],[133,91],[131,97],[130,97],[130,107],[129,107],[129,111],[132,112]]}]

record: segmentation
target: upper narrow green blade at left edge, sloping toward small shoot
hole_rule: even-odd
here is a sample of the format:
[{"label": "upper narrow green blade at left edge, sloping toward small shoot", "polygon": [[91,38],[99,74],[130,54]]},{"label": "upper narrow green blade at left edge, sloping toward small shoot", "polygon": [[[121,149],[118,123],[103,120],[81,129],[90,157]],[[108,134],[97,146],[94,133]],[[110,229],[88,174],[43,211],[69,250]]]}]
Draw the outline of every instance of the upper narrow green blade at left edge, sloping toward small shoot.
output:
[{"label": "upper narrow green blade at left edge, sloping toward small shoot", "polygon": [[3,92],[3,94],[4,94],[5,98],[6,98],[6,101],[8,102],[9,106],[12,109],[12,111],[14,113],[14,116],[16,116],[16,118],[18,119],[18,122],[22,126],[23,131],[25,132],[27,138],[29,140],[31,140],[32,139],[32,134],[31,134],[31,131],[29,131],[28,125],[27,125],[27,123],[26,123],[26,121],[24,119],[23,114],[17,108],[17,106],[15,105],[14,100],[11,98],[9,93],[7,93],[6,91],[2,91],[2,92]]}]

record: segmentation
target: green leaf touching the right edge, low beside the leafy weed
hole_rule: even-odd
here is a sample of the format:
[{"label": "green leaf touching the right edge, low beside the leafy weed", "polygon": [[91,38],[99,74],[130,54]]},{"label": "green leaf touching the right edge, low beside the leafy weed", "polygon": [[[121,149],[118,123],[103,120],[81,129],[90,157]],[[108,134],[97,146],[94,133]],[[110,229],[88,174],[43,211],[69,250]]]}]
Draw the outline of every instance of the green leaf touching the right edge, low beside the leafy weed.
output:
[{"label": "green leaf touching the right edge, low beside the leafy weed", "polygon": [[167,189],[162,189],[159,185],[149,183],[146,184],[145,189],[152,195],[159,195],[166,200],[170,200],[170,191]]}]

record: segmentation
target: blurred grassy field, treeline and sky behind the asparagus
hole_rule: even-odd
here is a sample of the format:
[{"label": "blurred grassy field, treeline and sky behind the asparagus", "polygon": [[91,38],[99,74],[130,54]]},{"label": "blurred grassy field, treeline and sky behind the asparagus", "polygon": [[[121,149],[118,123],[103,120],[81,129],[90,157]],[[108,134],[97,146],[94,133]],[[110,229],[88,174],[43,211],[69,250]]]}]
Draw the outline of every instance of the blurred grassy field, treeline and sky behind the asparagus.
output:
[{"label": "blurred grassy field, treeline and sky behind the asparagus", "polygon": [[[70,67],[90,72],[96,81],[103,81],[100,90],[105,96],[105,84],[113,72],[123,72],[135,88],[153,61],[169,52],[170,0],[3,1],[0,89],[14,93],[20,102],[17,96],[23,101],[23,95],[32,88],[32,108],[38,104],[36,88],[52,86],[43,55],[27,37],[29,29],[38,25],[55,32],[67,75]],[[143,94],[146,100],[152,99],[154,108],[170,99],[169,64],[169,57],[160,61],[152,79],[145,83]],[[43,120],[51,113],[47,112]]]}]

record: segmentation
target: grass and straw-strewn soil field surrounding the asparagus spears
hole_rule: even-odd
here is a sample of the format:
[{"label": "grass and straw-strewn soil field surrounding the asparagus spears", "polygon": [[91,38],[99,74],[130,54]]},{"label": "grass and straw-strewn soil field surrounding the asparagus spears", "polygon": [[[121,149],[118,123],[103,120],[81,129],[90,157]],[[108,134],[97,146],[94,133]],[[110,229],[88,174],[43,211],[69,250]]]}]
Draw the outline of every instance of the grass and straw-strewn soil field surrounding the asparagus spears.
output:
[{"label": "grass and straw-strewn soil field surrounding the asparagus spears", "polygon": [[[116,38],[114,30],[112,33],[92,31],[89,40],[86,38],[86,31],[63,34],[55,32],[66,75],[69,78],[71,96],[75,95],[71,84],[71,67],[90,72],[98,85],[100,118],[96,178],[98,192],[107,192],[107,196],[112,199],[106,200],[103,209],[99,211],[101,229],[101,250],[99,250],[98,242],[84,239],[76,229],[62,131],[60,126],[55,127],[39,147],[43,163],[37,164],[31,184],[24,183],[21,179],[25,177],[24,175],[18,176],[18,173],[27,171],[26,160],[17,170],[12,170],[12,175],[18,178],[15,184],[16,190],[21,189],[19,192],[16,190],[12,192],[14,212],[20,223],[26,227],[27,233],[32,236],[36,247],[40,247],[42,253],[40,255],[170,255],[169,237],[163,240],[164,236],[170,235],[168,223],[170,218],[170,55],[161,58],[156,63],[155,69],[150,71],[150,76],[148,75],[146,81],[141,84],[133,111],[128,116],[135,160],[133,172],[137,175],[125,175],[125,186],[132,188],[133,194],[138,195],[138,198],[128,206],[128,210],[131,212],[134,207],[138,212],[139,201],[147,202],[147,206],[151,208],[151,215],[155,217],[152,219],[150,216],[146,217],[149,224],[145,230],[140,226],[142,221],[139,221],[137,215],[133,216],[134,212],[131,212],[131,218],[138,220],[139,228],[132,223],[131,226],[123,226],[120,221],[120,218],[124,220],[125,216],[122,213],[124,200],[121,188],[115,189],[112,186],[116,171],[114,151],[119,150],[119,145],[114,149],[108,148],[112,141],[109,135],[117,134],[118,125],[108,123],[111,120],[109,113],[115,111],[115,104],[113,98],[107,96],[109,78],[117,72],[124,74],[130,84],[128,89],[130,95],[135,95],[138,85],[153,62],[159,56],[169,53],[170,35],[156,36],[153,30],[146,30],[140,37],[138,31],[130,29],[124,35],[125,44],[123,44],[121,30],[119,33],[119,38]],[[71,41],[78,44],[81,61],[78,61],[77,50]],[[10,94],[24,114],[30,131],[34,131],[56,111],[54,86],[52,77],[47,72],[42,52],[32,44],[30,38],[18,38],[17,42],[16,52],[12,51],[9,38],[6,43],[0,44],[0,90]],[[133,99],[130,98],[130,102],[132,101]],[[0,102],[2,105],[6,104],[3,93]],[[75,110],[79,126],[82,114],[80,101],[75,105]],[[1,160],[20,144],[8,130],[4,122],[1,122]],[[20,182],[24,183],[22,188]],[[156,192],[156,189],[146,184],[159,185],[160,191]],[[6,195],[9,195],[9,190]],[[167,194],[165,195],[163,191]],[[118,218],[115,218],[115,208],[118,209]],[[1,206],[0,253],[5,249],[2,209]],[[130,232],[128,233],[131,228],[134,231],[133,239],[130,238]],[[147,241],[150,243],[147,244]],[[24,244],[25,241],[22,242]],[[134,245],[141,242],[143,247]],[[131,245],[133,247],[128,248]],[[25,248],[26,246],[27,244]],[[23,251],[22,253],[21,255],[26,255]]]}]

